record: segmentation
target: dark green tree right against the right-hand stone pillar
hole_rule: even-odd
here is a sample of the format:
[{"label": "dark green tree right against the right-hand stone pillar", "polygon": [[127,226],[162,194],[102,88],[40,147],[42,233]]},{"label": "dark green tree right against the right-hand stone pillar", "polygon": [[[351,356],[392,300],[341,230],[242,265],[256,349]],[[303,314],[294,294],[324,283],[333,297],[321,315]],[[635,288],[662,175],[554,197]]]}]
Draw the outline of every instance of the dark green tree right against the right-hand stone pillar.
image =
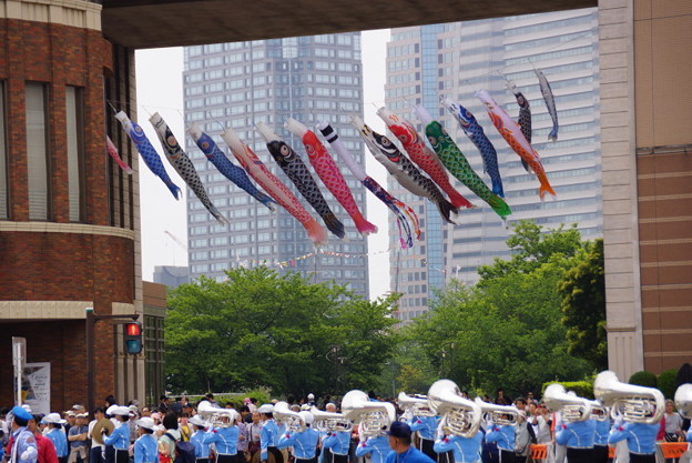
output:
[{"label": "dark green tree right against the right-hand stone pillar", "polygon": [[558,284],[562,296],[562,324],[567,326],[569,353],[608,368],[606,332],[606,280],[603,240],[589,243]]}]

